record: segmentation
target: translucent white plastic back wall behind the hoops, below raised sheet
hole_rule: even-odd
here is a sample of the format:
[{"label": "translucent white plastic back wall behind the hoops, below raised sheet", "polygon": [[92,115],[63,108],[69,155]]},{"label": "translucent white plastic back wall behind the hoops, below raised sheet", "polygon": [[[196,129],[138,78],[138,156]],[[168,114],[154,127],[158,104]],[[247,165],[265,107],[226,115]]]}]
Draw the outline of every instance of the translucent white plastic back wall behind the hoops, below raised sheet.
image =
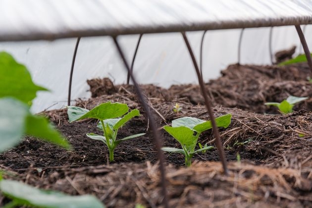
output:
[{"label": "translucent white plastic back wall behind the hoops, below raised sheet", "polygon": [[[204,80],[216,78],[220,70],[237,62],[240,29],[216,30],[206,33],[203,53]],[[203,32],[189,32],[193,50],[199,57]],[[312,48],[312,26],[306,28],[306,38]],[[245,29],[242,40],[241,62],[270,64],[268,50],[269,28]],[[120,37],[122,48],[130,61],[138,35]],[[33,42],[0,42],[0,51],[7,51],[30,69],[36,83],[51,93],[38,94],[33,111],[39,112],[51,105],[66,104],[68,79],[76,39]],[[300,41],[294,26],[274,27],[272,51],[291,46],[300,51]],[[301,52],[303,50],[301,49]],[[140,83],[154,83],[162,87],[172,84],[198,83],[194,66],[179,33],[144,35],[134,65]],[[115,84],[126,82],[126,72],[109,37],[82,38],[77,52],[72,83],[72,99],[89,98],[86,79],[109,77]]]}]

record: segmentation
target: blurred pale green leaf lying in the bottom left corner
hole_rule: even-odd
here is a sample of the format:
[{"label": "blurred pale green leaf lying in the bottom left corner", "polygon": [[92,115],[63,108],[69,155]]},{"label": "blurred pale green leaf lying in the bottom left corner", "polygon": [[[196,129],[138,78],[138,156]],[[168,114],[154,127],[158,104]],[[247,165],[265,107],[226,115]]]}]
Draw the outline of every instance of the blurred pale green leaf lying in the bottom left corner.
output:
[{"label": "blurred pale green leaf lying in the bottom left corner", "polygon": [[44,208],[104,208],[92,195],[69,196],[60,192],[40,190],[21,182],[1,180],[1,191],[19,205]]}]

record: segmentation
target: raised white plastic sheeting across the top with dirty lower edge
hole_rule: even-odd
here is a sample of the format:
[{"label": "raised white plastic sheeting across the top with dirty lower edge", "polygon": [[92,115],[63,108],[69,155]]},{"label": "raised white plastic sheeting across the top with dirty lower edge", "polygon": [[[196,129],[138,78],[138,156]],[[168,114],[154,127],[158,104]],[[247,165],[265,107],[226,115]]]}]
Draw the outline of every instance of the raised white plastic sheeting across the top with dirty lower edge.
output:
[{"label": "raised white plastic sheeting across the top with dirty lower edge", "polygon": [[1,0],[0,41],[312,23],[312,0]]}]

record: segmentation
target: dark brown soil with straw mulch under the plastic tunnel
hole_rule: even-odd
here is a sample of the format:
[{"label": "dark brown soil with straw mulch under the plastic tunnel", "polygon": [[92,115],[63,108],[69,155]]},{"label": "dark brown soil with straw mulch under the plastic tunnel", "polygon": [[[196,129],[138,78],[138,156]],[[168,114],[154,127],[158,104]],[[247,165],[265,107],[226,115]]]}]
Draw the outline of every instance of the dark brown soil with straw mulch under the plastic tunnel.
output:
[{"label": "dark brown soil with straw mulch under the plastic tunnel", "polygon": [[[232,114],[228,128],[220,128],[229,174],[223,173],[216,149],[193,157],[190,168],[184,157],[165,154],[170,207],[312,207],[312,83],[307,63],[290,66],[230,65],[221,77],[206,83],[216,116]],[[158,161],[148,120],[132,85],[108,80],[88,80],[92,98],[76,105],[88,109],[111,101],[139,109],[142,116],[128,122],[118,138],[146,135],[122,142],[107,160],[108,150],[86,133],[100,134],[96,120],[69,123],[66,109],[42,112],[67,138],[70,151],[25,137],[22,143],[0,154],[4,178],[70,195],[93,194],[107,207],[161,207]],[[141,85],[158,127],[173,119],[193,116],[209,119],[198,85],[163,89]],[[265,102],[281,102],[289,95],[309,97],[294,112],[281,114]],[[182,110],[176,114],[174,105]],[[179,144],[159,128],[164,146]],[[304,135],[304,136],[303,136]],[[211,130],[199,142],[214,145]],[[238,161],[237,155],[240,155]],[[0,206],[8,200],[0,195]]]}]

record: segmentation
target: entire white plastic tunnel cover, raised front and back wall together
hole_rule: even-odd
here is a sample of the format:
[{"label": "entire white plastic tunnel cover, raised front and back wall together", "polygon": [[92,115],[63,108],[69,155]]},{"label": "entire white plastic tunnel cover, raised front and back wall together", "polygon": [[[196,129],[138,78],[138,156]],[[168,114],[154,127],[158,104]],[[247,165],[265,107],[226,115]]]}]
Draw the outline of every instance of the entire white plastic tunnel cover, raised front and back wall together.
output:
[{"label": "entire white plastic tunnel cover, raised front and back wall together", "polygon": [[[240,30],[220,30],[312,23],[312,0],[0,0],[0,51],[26,64],[37,84],[52,90],[39,93],[33,111],[66,104],[68,78],[76,38],[139,33],[213,30],[204,44],[204,79],[216,78],[237,62]],[[312,34],[308,27],[306,34]],[[190,32],[199,52],[203,32]],[[242,63],[269,64],[268,28],[246,29]],[[308,36],[309,37],[309,36]],[[131,60],[138,35],[119,37]],[[308,38],[308,44],[311,47]],[[294,26],[274,28],[273,52],[299,46]],[[299,51],[299,50],[298,50]],[[199,53],[198,53],[199,54]],[[140,83],[162,87],[197,83],[181,34],[144,35],[135,74]],[[72,99],[89,97],[86,79],[108,76],[124,83],[126,73],[110,37],[82,38],[76,57]]]}]

